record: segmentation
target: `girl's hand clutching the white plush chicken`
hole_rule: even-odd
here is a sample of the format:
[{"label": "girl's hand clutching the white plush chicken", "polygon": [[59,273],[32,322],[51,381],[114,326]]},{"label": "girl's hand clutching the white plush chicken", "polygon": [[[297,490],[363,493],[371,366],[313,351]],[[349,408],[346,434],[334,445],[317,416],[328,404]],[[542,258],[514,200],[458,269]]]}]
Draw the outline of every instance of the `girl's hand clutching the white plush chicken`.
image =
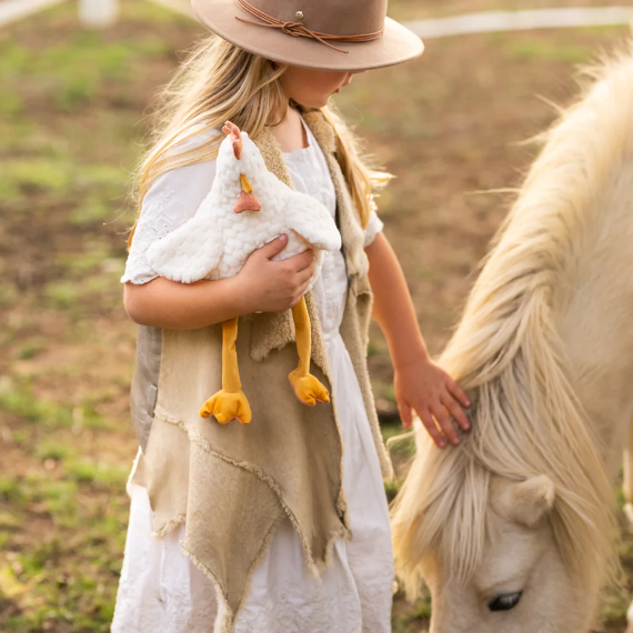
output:
[{"label": "girl's hand clutching the white plush chicken", "polygon": [[243,313],[281,312],[297,305],[314,274],[311,250],[285,260],[271,259],[283,251],[288,235],[282,234],[258,249],[235,275],[243,297]]}]

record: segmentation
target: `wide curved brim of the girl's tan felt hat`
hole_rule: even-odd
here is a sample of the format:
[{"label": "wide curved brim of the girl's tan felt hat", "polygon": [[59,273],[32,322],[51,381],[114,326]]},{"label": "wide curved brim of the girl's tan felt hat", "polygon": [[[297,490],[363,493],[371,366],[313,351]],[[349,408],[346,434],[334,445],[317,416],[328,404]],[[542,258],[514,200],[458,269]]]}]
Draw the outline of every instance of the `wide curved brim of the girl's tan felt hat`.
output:
[{"label": "wide curved brim of the girl's tan felt hat", "polygon": [[271,29],[237,20],[257,21],[234,0],[192,0],[198,19],[222,39],[245,51],[273,61],[315,70],[360,71],[384,68],[422,54],[422,40],[395,20],[386,18],[381,38],[370,42],[332,41],[336,51],[311,38],[295,38]]}]

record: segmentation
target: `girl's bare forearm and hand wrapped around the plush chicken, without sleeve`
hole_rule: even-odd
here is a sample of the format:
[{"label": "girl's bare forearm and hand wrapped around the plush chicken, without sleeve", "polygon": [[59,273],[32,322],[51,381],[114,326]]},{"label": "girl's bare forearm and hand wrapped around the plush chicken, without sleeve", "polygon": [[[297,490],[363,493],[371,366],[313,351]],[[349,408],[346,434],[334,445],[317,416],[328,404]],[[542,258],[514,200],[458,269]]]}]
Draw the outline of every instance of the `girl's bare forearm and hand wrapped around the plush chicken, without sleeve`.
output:
[{"label": "girl's bare forearm and hand wrapped around the plush chicken, without sleeve", "polygon": [[193,330],[252,312],[279,312],[301,300],[314,272],[305,251],[271,261],[288,243],[281,235],[254,251],[235,277],[179,283],[162,277],[144,284],[125,283],[124,304],[132,321],[170,330]]}]

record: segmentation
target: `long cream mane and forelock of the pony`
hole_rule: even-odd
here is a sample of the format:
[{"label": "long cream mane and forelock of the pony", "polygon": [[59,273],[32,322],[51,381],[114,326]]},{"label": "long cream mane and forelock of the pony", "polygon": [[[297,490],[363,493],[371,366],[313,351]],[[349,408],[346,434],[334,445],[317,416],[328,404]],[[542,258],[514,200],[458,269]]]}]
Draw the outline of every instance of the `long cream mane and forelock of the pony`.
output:
[{"label": "long cream mane and forelock of the pony", "polygon": [[440,359],[469,391],[473,425],[459,448],[443,451],[418,428],[392,512],[396,570],[410,595],[432,553],[459,582],[472,576],[489,535],[493,475],[553,481],[551,525],[573,577],[597,589],[617,569],[612,482],[557,323],[600,213],[613,205],[616,161],[633,165],[633,42],[583,78],[581,99],[539,137],[541,154]]}]

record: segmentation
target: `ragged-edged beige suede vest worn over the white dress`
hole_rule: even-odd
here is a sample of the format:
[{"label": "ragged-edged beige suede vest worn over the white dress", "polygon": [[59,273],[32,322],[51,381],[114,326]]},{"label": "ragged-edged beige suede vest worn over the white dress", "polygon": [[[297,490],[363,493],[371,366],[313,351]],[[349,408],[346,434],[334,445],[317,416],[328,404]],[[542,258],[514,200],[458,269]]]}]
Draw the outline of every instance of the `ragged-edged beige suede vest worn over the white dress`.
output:
[{"label": "ragged-edged beige suede vest worn over the white dress", "polygon": [[[323,115],[304,114],[336,190],[349,291],[341,335],[363,394],[383,476],[392,476],[366,370],[372,295],[363,230],[335,157],[335,135]],[[269,129],[257,139],[267,167],[292,185]],[[153,531],[162,536],[185,523],[183,551],[218,589],[215,631],[233,630],[251,573],[275,528],[290,519],[300,535],[308,573],[328,564],[336,537],[351,537],[342,486],[342,445],[319,314],[312,323],[312,373],[333,403],[315,408],[294,396],[288,373],[297,366],[290,311],[239,320],[238,359],[253,411],[249,425],[218,424],[199,415],[221,385],[221,324],[189,331],[141,329],[132,384],[132,416],[142,452],[131,481],[148,489]],[[158,375],[152,384],[151,375]]]}]

